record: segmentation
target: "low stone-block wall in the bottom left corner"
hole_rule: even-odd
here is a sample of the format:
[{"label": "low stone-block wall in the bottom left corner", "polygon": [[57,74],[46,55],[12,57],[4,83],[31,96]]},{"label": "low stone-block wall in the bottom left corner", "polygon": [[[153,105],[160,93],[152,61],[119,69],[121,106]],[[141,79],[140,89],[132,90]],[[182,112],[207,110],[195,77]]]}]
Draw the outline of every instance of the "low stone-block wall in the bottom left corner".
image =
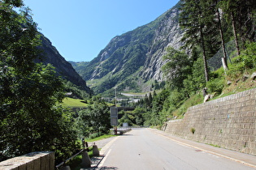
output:
[{"label": "low stone-block wall in the bottom left corner", "polygon": [[1,170],[54,170],[54,152],[41,151],[0,162]]}]

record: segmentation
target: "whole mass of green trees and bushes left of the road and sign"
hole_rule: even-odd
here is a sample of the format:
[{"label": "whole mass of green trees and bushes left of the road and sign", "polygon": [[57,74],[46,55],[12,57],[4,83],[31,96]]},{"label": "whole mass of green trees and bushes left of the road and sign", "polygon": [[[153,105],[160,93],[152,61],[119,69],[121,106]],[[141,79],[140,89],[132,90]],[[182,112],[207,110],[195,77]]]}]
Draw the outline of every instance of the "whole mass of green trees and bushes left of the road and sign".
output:
[{"label": "whole mass of green trees and bushes left of the road and sign", "polygon": [[[108,105],[43,64],[40,46],[41,33],[23,1],[1,1],[0,161],[54,151],[59,164],[80,149],[77,138],[107,134],[111,127]],[[67,92],[74,99],[65,98]],[[86,109],[71,112],[73,107]]]}]

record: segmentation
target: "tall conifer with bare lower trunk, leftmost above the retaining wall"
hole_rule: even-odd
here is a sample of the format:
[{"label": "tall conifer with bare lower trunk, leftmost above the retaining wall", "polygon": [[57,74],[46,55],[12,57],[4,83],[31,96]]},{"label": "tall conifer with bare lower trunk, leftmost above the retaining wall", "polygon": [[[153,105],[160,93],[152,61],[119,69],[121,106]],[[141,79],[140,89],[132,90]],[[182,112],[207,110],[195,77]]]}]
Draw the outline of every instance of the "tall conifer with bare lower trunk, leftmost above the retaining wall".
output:
[{"label": "tall conifer with bare lower trunk, leftmost above the retaining wall", "polygon": [[208,2],[183,0],[179,19],[180,27],[184,29],[182,40],[185,42],[185,47],[192,50],[199,46],[202,49],[206,82],[209,80],[207,56],[208,53],[215,53],[216,49],[212,47],[217,43],[214,14],[214,8],[209,6]]}]

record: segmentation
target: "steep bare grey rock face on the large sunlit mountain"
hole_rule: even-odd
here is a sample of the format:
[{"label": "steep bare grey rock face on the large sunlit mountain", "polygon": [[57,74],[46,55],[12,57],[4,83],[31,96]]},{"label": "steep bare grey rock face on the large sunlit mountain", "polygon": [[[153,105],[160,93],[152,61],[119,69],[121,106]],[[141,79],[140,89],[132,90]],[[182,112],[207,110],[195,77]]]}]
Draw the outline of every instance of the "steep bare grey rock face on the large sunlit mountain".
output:
[{"label": "steep bare grey rock face on the large sunlit mountain", "polygon": [[155,30],[154,40],[147,53],[147,60],[142,71],[143,79],[163,80],[161,67],[165,64],[162,60],[165,49],[171,46],[180,49],[182,32],[178,24],[178,8],[174,7],[163,16],[159,27]]}]

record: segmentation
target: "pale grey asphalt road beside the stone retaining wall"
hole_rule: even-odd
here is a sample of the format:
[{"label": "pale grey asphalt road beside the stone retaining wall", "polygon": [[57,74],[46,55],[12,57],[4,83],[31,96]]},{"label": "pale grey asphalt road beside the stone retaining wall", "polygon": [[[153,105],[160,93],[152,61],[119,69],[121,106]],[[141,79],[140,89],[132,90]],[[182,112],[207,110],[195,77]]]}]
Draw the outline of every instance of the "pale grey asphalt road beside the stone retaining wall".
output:
[{"label": "pale grey asphalt road beside the stone retaining wall", "polygon": [[254,169],[231,159],[188,147],[148,129],[135,129],[114,138],[98,169]]}]

